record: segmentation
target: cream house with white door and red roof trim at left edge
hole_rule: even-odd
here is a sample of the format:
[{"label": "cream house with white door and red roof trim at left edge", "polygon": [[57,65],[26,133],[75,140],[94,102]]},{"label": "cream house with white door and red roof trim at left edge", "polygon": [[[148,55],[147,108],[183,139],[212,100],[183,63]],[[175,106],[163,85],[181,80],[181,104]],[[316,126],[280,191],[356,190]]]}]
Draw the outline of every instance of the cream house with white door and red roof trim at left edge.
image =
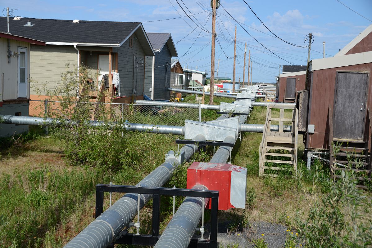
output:
[{"label": "cream house with white door and red roof trim at left edge", "polygon": [[[30,44],[44,42],[0,32],[0,114],[29,114]],[[28,125],[0,124],[0,136],[11,136],[28,130]]]}]

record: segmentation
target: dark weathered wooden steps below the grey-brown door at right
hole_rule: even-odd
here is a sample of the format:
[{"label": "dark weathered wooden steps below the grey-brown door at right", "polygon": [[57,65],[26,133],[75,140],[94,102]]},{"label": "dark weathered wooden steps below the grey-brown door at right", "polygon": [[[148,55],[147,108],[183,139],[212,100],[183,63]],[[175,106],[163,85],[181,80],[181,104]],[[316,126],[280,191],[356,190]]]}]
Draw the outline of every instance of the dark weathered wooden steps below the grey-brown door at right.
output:
[{"label": "dark weathered wooden steps below the grey-brown door at right", "polygon": [[[348,170],[347,165],[351,166],[351,170],[355,172],[356,179],[360,182],[364,180],[371,181],[372,160],[368,153],[369,135],[368,130],[372,127],[371,110],[368,108],[367,125],[363,140],[340,140],[333,137],[333,108],[328,107],[329,116],[329,150],[330,150],[330,169],[331,178],[335,181],[341,178],[340,172]],[[357,185],[358,187],[366,187],[365,185]]]}]

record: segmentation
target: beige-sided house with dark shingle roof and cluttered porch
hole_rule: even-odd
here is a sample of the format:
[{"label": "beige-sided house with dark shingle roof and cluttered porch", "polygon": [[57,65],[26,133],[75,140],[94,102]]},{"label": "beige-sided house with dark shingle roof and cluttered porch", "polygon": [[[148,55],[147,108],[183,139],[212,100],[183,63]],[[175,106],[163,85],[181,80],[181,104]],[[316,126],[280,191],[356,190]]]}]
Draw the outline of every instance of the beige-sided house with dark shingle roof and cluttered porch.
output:
[{"label": "beige-sided house with dark shingle roof and cluttered porch", "polygon": [[[6,17],[0,17],[0,31],[6,28]],[[104,92],[96,101],[130,102],[143,99],[145,88],[145,56],[153,56],[154,50],[140,22],[96,22],[82,20],[11,19],[11,32],[16,35],[42,40],[46,46],[31,45],[30,76],[36,86],[47,84],[55,88],[65,71],[65,63],[80,63],[101,71],[93,78],[94,88]],[[112,86],[112,73],[117,72],[120,85]],[[107,74],[108,87],[101,84]],[[99,81],[99,82],[98,82]],[[81,82],[79,91],[86,87]],[[120,98],[116,98],[120,96]],[[31,99],[44,99],[30,89]]]}]

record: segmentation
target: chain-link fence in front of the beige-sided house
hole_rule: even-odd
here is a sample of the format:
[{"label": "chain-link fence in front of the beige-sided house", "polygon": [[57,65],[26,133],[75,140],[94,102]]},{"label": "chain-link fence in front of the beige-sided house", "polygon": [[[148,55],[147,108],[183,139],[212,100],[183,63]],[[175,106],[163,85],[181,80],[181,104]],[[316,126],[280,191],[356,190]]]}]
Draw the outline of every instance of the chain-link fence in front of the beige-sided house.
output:
[{"label": "chain-link fence in front of the beige-sided house", "polygon": [[[62,115],[62,104],[59,101],[33,101],[30,100],[29,115],[35,117],[58,117]],[[102,112],[110,113],[113,121],[122,120],[128,123],[154,124],[154,125],[185,125],[185,120],[201,120],[199,108],[168,107],[156,105],[137,105],[121,103],[85,102],[84,107],[89,109],[91,120],[99,120]],[[64,106],[65,108],[65,106]],[[105,111],[103,111],[105,110]],[[73,106],[71,106],[72,113]],[[66,111],[64,111],[66,113]],[[65,116],[65,114],[63,114]],[[65,116],[68,117],[69,116]]]}]

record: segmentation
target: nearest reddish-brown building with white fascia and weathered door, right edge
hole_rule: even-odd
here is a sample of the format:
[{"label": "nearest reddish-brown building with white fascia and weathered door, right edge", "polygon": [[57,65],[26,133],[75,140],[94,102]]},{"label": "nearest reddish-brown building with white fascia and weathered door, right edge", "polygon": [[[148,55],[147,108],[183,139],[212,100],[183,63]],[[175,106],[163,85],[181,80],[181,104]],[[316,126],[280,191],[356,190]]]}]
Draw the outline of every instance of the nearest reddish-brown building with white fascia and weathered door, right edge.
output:
[{"label": "nearest reddish-brown building with white fascia and weathered door, right edge", "polygon": [[[333,58],[309,63],[307,149],[329,149],[330,115],[333,139],[371,143],[372,116],[372,25]],[[358,52],[358,51],[363,52]],[[368,109],[371,111],[368,114]],[[308,129],[307,131],[309,131]]]}]

